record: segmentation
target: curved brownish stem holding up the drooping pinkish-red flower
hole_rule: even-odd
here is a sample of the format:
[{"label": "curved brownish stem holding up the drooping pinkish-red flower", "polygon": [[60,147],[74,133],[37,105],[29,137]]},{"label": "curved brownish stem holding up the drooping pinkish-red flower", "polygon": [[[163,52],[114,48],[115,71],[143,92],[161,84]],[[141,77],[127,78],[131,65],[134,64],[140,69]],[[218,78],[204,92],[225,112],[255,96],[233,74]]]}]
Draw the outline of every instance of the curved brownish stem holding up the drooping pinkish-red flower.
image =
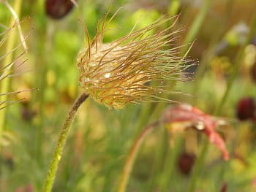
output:
[{"label": "curved brownish stem holding up the drooping pinkish-red flower", "polygon": [[117,190],[118,192],[126,191],[129,176],[132,172],[132,167],[133,167],[133,164],[135,163],[135,158],[138,154],[138,150],[140,149],[140,145],[143,142],[143,139],[148,134],[148,132],[151,131],[152,128],[157,126],[157,124],[158,124],[158,122],[152,123],[149,126],[146,126],[146,128],[144,128],[143,131],[141,131],[140,135],[138,136],[138,138],[135,140],[134,144],[132,145],[132,148],[129,151],[129,154],[127,157],[127,161],[124,164],[123,172],[121,174],[121,180],[120,180],[118,190]]}]

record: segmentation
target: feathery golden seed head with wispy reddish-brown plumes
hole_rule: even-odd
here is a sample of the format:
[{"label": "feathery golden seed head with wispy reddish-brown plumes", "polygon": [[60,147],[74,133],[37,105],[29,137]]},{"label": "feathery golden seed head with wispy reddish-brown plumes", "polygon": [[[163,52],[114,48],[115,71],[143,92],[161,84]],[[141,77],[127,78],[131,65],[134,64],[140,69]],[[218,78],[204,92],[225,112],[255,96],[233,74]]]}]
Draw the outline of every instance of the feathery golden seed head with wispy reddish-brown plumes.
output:
[{"label": "feathery golden seed head with wispy reddish-brown plumes", "polygon": [[[163,82],[178,80],[181,72],[189,67],[188,60],[179,56],[180,47],[173,47],[178,33],[182,31],[181,28],[172,31],[178,16],[162,16],[138,30],[135,30],[135,24],[126,36],[103,43],[104,33],[109,30],[108,23],[116,15],[113,14],[107,23],[108,13],[109,10],[97,24],[92,41],[84,26],[88,45],[77,58],[80,87],[109,108],[121,109],[125,104],[143,101],[171,101],[159,97],[159,93],[172,93]],[[160,29],[167,23],[172,24]]]}]

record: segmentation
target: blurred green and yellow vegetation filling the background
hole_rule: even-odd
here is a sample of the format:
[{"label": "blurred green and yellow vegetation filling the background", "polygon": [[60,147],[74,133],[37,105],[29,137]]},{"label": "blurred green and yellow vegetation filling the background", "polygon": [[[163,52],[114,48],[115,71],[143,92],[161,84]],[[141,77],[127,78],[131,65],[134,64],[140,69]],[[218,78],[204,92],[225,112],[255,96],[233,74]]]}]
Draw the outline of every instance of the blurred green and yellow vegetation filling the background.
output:
[{"label": "blurred green and yellow vegetation filling the background", "polygon": [[[14,4],[15,0],[9,2]],[[97,20],[105,15],[110,3],[79,0],[78,7],[74,6],[64,18],[53,19],[45,12],[44,0],[22,2],[20,20],[23,33],[28,35],[25,58],[29,60],[15,72],[10,91],[39,91],[18,94],[18,99],[26,99],[4,109],[7,114],[0,138],[0,191],[25,192],[29,191],[28,185],[32,191],[42,190],[59,127],[82,92],[75,58],[86,46],[86,39],[78,18],[85,20],[94,37]],[[109,17],[119,7],[123,9],[110,22],[110,28],[120,28],[108,31],[105,42],[129,33],[138,18],[136,27],[141,28],[163,14],[181,13],[173,29],[185,30],[176,45],[189,46],[195,40],[189,58],[199,59],[199,65],[190,69],[194,73],[192,81],[170,85],[173,90],[192,96],[175,94],[171,99],[229,122],[219,131],[230,151],[230,161],[224,162],[216,147],[209,146],[195,191],[216,192],[225,185],[227,191],[256,191],[255,119],[240,121],[236,117],[240,99],[256,99],[256,70],[252,72],[256,64],[256,34],[244,45],[256,17],[256,1],[116,0]],[[10,11],[0,3],[0,23],[8,26],[11,18]],[[18,41],[17,36],[17,44]],[[4,46],[0,48],[2,55]],[[236,61],[239,50],[241,59]],[[238,74],[225,103],[219,106],[236,62]],[[123,110],[108,110],[92,99],[86,101],[69,133],[53,191],[115,191],[132,143],[143,127],[161,116],[165,106],[129,104]],[[218,114],[217,107],[221,108]],[[155,128],[138,153],[127,191],[187,191],[192,171],[181,172],[179,157],[190,153],[197,158],[202,145],[203,137],[196,131],[185,131],[178,141],[167,129]]]}]

